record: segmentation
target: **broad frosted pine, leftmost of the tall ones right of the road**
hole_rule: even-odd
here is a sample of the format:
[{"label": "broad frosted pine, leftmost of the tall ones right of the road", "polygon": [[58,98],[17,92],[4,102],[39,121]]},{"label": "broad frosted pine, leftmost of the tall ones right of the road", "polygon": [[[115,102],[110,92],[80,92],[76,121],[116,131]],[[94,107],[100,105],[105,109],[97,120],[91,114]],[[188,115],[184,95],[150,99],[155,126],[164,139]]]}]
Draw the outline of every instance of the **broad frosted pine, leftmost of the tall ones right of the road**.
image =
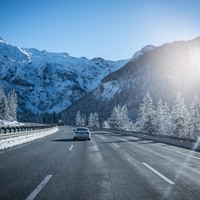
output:
[{"label": "broad frosted pine, leftmost of the tall ones right of the road", "polygon": [[153,100],[149,92],[143,97],[138,116],[136,122],[138,131],[155,133]]}]

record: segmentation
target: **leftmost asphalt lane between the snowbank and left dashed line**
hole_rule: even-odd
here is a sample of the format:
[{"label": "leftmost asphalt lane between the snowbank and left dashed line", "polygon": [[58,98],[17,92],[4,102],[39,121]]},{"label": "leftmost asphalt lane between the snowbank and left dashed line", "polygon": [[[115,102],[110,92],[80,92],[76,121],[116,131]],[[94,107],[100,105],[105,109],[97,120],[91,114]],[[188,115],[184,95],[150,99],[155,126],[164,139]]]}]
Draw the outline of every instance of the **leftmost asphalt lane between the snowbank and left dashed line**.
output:
[{"label": "leftmost asphalt lane between the snowbank and left dashed line", "polygon": [[[67,142],[59,142],[61,138]],[[70,136],[71,137],[71,136]],[[72,139],[63,131],[0,154],[0,199],[26,199],[48,174],[57,172],[59,158]]]}]

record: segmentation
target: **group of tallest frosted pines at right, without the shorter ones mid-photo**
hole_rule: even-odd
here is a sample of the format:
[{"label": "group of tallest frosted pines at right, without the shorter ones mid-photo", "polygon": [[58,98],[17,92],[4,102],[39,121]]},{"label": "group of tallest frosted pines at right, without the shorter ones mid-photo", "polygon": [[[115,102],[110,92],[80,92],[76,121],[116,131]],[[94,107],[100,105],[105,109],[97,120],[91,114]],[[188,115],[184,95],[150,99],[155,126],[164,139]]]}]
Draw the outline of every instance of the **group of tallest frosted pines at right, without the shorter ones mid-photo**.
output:
[{"label": "group of tallest frosted pines at right, without the shorter ones mid-photo", "polygon": [[178,93],[170,109],[161,99],[154,107],[152,98],[147,92],[139,108],[139,117],[135,126],[143,132],[196,139],[200,136],[198,96],[195,95],[190,106],[187,107],[184,98]]}]

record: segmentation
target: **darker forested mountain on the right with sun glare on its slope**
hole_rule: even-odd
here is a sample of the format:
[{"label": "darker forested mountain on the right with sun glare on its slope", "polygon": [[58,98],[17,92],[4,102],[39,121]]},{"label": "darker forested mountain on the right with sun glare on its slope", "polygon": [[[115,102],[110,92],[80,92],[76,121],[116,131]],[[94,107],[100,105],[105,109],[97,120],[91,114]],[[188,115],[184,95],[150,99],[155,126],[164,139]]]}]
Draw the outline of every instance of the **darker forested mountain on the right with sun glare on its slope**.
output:
[{"label": "darker forested mountain on the right with sun glare on its slope", "polygon": [[124,67],[103,78],[93,92],[69,106],[62,112],[62,118],[73,123],[79,110],[87,116],[98,112],[103,122],[110,117],[114,106],[126,104],[134,120],[147,91],[154,104],[161,98],[171,106],[180,92],[188,105],[195,94],[200,97],[199,86],[200,37],[159,47],[148,45],[136,52]]}]

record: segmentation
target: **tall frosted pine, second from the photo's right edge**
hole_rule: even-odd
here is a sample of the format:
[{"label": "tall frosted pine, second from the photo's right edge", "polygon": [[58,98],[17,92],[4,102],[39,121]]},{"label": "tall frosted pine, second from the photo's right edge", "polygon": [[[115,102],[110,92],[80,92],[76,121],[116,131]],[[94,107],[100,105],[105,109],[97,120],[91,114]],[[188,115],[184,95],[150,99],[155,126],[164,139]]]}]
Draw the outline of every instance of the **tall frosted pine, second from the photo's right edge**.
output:
[{"label": "tall frosted pine, second from the photo's right edge", "polygon": [[188,110],[180,93],[172,106],[172,133],[178,137],[188,136]]}]

